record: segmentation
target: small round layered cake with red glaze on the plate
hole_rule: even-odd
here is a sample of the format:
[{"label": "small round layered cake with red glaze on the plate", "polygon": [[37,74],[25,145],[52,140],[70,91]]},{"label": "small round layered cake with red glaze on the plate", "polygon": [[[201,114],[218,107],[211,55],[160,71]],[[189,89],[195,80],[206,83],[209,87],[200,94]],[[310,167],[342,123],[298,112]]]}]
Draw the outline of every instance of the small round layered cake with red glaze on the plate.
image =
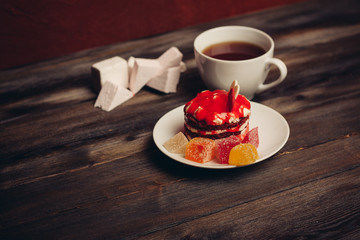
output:
[{"label": "small round layered cake with red glaze on the plate", "polygon": [[184,107],[185,134],[191,139],[225,138],[231,135],[241,140],[249,131],[250,102],[238,94],[234,81],[230,90],[203,91]]}]

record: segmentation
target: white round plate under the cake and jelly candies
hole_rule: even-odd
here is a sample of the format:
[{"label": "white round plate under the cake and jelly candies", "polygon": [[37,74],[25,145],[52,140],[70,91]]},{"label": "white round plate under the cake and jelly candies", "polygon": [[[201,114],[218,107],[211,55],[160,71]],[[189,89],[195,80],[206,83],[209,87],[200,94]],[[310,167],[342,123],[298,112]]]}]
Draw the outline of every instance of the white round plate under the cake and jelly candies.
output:
[{"label": "white round plate under the cake and jelly candies", "polygon": [[[214,169],[237,167],[234,165],[220,164],[217,163],[216,160],[207,163],[197,163],[185,159],[183,154],[170,153],[163,147],[163,144],[168,139],[184,130],[183,109],[184,105],[171,110],[162,116],[155,124],[153,138],[160,151],[178,162],[195,167]],[[289,125],[280,113],[260,103],[251,102],[250,129],[254,127],[259,127],[259,159],[255,163],[259,163],[277,153],[289,138]]]}]

